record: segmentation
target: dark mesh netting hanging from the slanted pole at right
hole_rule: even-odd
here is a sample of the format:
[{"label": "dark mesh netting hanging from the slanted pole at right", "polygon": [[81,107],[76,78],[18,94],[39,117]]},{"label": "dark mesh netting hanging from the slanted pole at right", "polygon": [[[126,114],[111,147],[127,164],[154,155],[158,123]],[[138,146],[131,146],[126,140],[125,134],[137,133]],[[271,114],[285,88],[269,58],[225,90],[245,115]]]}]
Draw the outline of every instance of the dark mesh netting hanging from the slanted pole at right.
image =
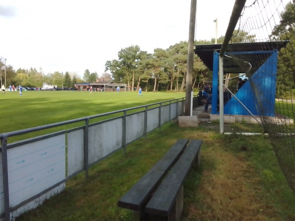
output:
[{"label": "dark mesh netting hanging from the slanted pole at right", "polygon": [[[246,3],[223,64],[224,85],[261,120],[295,192],[295,0]],[[237,99],[224,113],[248,115]]]}]

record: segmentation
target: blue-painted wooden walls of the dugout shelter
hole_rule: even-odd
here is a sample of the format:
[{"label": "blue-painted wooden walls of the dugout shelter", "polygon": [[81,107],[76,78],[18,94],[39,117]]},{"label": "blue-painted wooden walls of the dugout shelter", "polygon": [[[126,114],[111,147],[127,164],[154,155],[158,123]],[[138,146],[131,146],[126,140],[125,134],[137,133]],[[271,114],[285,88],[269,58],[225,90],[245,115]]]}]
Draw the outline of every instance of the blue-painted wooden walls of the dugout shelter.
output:
[{"label": "blue-painted wooden walls of the dugout shelter", "polygon": [[[271,53],[271,55],[252,76],[247,76],[249,81],[244,83],[236,94],[235,92],[234,94],[252,114],[274,116],[277,50],[265,53]],[[216,56],[216,54],[214,55]],[[216,63],[218,65],[218,62]],[[216,63],[213,64],[213,66],[216,65]],[[214,80],[216,81],[216,75],[218,76],[218,73],[214,73],[213,68],[213,86],[217,85],[217,82],[214,83]],[[217,96],[217,92],[212,95],[212,104],[216,104],[213,101],[217,101],[217,97],[213,100],[214,96]],[[213,106],[214,105],[212,105],[212,113],[219,113]],[[251,115],[234,97],[224,106],[224,114]]]}]

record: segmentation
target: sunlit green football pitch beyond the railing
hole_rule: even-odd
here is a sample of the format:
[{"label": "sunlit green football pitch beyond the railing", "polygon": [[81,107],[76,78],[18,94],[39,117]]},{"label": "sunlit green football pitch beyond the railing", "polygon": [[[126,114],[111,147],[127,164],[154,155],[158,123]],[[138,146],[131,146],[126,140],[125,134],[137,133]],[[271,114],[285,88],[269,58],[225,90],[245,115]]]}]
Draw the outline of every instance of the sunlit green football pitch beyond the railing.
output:
[{"label": "sunlit green football pitch beyond the railing", "polygon": [[0,133],[17,131],[184,98],[185,92],[6,91],[1,94]]}]

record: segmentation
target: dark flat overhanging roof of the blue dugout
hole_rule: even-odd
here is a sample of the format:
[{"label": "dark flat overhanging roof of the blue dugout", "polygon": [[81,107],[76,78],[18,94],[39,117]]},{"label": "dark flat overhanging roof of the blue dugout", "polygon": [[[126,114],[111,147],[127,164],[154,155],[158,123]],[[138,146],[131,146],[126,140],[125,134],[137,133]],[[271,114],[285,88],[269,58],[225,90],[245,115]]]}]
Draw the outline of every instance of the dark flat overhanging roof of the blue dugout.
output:
[{"label": "dark flat overhanging roof of the blue dugout", "polygon": [[[258,54],[247,53],[247,52],[261,52],[261,51],[280,51],[281,48],[286,47],[289,41],[273,41],[273,42],[252,42],[252,43],[235,43],[229,44],[227,49],[231,52],[245,52],[240,55],[240,59],[249,62],[252,65],[252,71],[257,70],[258,67],[268,58],[269,55],[264,54],[264,57],[258,57]],[[212,44],[212,45],[195,45],[195,54],[198,55],[204,64],[213,70],[213,53],[216,50],[220,52],[222,44]],[[228,51],[226,51],[228,52]],[[229,59],[227,56],[223,57],[223,70],[224,73],[244,73],[244,70],[237,65],[236,62]]]}]

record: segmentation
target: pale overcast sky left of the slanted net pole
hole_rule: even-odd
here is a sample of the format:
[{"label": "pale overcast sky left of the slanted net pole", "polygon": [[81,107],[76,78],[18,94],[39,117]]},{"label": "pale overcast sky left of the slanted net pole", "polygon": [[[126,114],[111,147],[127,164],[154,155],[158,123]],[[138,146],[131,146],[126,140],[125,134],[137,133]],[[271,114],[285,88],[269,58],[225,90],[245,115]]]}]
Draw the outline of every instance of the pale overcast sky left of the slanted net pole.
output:
[{"label": "pale overcast sky left of the slanted net pole", "polygon": [[[235,0],[197,0],[195,40],[225,35]],[[138,45],[153,53],[188,41],[191,0],[0,0],[0,57],[43,73],[101,76]]]}]

